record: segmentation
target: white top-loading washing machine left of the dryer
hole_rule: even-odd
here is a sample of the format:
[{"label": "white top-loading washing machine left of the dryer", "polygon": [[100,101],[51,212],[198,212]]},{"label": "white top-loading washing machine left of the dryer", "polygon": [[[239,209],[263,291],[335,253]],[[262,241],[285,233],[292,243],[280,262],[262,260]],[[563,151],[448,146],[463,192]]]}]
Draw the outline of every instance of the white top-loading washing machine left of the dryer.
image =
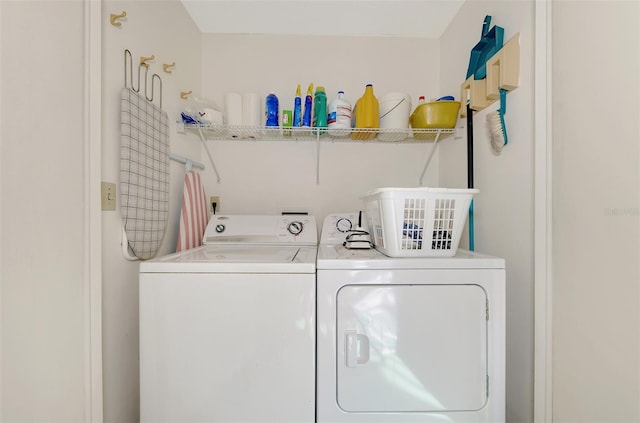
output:
[{"label": "white top-loading washing machine left of the dryer", "polygon": [[213,216],[140,263],[141,422],[313,422],[311,216]]}]

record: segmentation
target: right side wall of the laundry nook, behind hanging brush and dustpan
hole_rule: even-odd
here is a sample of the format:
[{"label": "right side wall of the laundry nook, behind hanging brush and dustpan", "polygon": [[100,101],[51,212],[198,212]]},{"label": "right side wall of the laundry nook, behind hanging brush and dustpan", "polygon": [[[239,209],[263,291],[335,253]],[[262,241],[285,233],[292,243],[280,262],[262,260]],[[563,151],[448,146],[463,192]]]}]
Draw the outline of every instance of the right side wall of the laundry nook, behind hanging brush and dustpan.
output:
[{"label": "right side wall of the laundry nook, behind hanging brush and dustpan", "polygon": [[[460,95],[471,49],[480,41],[485,15],[504,28],[504,40],[520,33],[520,86],[507,95],[509,144],[491,149],[486,116],[494,103],[474,114],[475,249],[506,259],[507,265],[507,421],[533,419],[533,1],[465,2],[441,41],[443,92]],[[466,127],[466,119],[462,126]],[[466,133],[466,131],[465,131]],[[443,143],[440,183],[467,186],[466,140]],[[466,239],[465,234],[465,239]],[[465,242],[466,243],[466,242]]]}]

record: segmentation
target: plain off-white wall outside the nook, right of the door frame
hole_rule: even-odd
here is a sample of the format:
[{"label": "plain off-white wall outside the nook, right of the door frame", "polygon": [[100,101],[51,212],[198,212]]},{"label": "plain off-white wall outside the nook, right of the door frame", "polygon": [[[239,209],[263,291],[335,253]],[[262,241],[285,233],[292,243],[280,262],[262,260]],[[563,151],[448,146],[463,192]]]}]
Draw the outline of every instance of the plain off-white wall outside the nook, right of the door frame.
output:
[{"label": "plain off-white wall outside the nook, right of the door frame", "polygon": [[553,417],[637,422],[640,4],[552,16]]}]

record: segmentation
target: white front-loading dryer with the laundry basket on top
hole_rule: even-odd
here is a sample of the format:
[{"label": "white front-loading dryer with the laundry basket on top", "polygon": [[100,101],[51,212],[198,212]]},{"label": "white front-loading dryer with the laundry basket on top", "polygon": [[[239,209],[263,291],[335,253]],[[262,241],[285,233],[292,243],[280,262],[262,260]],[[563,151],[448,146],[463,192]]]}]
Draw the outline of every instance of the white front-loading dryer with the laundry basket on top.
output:
[{"label": "white front-loading dryer with the laundry basket on top", "polygon": [[318,247],[316,421],[504,422],[504,260],[347,250],[357,218]]}]

